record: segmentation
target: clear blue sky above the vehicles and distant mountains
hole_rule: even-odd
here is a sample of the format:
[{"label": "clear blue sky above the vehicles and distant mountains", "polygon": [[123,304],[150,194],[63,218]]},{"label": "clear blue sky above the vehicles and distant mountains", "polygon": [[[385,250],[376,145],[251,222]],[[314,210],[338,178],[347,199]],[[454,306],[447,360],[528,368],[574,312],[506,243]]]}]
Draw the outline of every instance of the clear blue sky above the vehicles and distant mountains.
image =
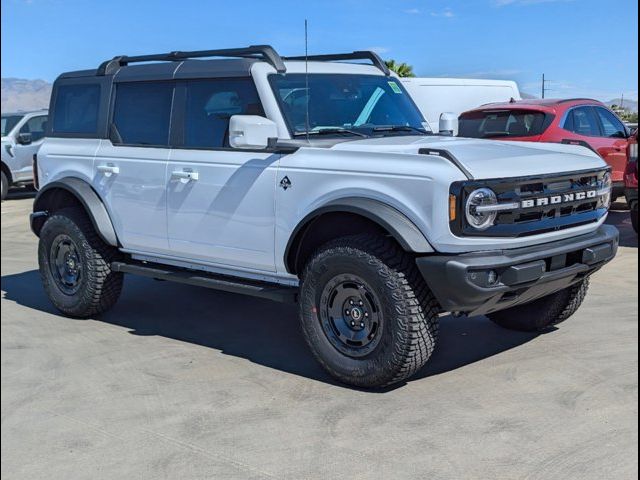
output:
[{"label": "clear blue sky above the vehicles and distant mountains", "polygon": [[420,76],[507,78],[539,95],[638,98],[633,0],[3,0],[3,77],[52,81],[117,54],[274,45],[374,49]]}]

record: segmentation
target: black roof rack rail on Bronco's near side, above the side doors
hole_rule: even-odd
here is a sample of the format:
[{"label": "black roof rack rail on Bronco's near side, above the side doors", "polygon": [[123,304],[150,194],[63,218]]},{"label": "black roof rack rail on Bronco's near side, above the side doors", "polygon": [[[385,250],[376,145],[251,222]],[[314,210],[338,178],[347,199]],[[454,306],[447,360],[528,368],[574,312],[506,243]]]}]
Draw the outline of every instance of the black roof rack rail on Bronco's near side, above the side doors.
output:
[{"label": "black roof rack rail on Bronco's near side, above the side doors", "polygon": [[191,52],[169,52],[157,53],[152,55],[137,55],[129,57],[121,55],[103,62],[98,67],[98,75],[106,75],[113,73],[118,68],[130,63],[139,62],[175,62],[179,60],[187,60],[189,58],[205,58],[205,57],[237,57],[237,58],[256,58],[262,59],[270,63],[278,73],[286,72],[286,67],[282,61],[282,57],[278,55],[270,45],[252,45],[245,48],[229,48],[224,50],[196,50]]}]

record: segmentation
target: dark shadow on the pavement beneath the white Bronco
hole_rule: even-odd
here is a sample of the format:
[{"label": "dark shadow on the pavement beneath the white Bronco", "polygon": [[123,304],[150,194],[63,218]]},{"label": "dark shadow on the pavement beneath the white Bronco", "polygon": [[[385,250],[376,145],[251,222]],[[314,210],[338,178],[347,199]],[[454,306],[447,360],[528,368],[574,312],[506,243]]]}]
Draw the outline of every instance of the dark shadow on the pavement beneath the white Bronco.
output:
[{"label": "dark shadow on the pavement beneath the white Bronco", "polygon": [[[4,299],[59,315],[47,299],[36,270],[2,276],[1,285]],[[159,335],[189,342],[337,385],[308,350],[297,318],[294,305],[128,276],[118,304],[97,320],[124,327],[132,335]],[[484,317],[444,317],[438,349],[412,380],[462,368],[535,336],[501,329]]]}]

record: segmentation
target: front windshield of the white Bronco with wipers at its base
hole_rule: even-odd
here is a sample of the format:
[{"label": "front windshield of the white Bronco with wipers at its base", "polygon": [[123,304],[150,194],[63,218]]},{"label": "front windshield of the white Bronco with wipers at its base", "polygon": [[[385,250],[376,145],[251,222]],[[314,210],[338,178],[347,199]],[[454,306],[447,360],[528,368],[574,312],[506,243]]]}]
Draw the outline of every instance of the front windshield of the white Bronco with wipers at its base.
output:
[{"label": "front windshield of the white Bronco with wipers at its base", "polygon": [[306,77],[305,74],[270,76],[293,136],[427,133],[422,114],[400,82],[392,77],[344,74]]}]

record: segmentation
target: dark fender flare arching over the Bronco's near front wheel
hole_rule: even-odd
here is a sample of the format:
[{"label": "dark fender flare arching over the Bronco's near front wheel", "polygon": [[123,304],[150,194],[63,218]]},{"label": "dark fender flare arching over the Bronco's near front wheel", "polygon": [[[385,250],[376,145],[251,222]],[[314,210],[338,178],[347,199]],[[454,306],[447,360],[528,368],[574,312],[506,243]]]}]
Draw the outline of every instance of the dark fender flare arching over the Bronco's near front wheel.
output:
[{"label": "dark fender flare arching over the Bronco's near front wheel", "polygon": [[[407,252],[433,253],[435,250],[420,229],[402,212],[379,200],[361,197],[347,197],[333,200],[305,216],[293,230],[284,252],[287,270],[295,269],[290,263],[290,255],[294,245],[298,243],[305,228],[325,213],[353,213],[361,215],[378,224],[400,244]],[[294,260],[295,262],[295,260]],[[293,270],[292,270],[293,268]]]}]

